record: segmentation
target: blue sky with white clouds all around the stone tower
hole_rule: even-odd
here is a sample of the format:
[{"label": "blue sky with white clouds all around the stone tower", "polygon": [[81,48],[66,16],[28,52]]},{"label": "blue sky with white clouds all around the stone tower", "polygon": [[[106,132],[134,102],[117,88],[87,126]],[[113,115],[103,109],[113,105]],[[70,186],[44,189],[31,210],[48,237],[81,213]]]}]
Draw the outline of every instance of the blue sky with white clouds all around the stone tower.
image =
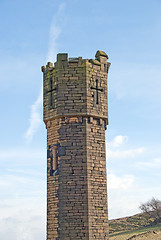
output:
[{"label": "blue sky with white clouds all around the stone tower", "polygon": [[160,12],[160,0],[0,0],[0,239],[45,239],[40,67],[59,52],[109,55],[109,217],[161,199]]}]

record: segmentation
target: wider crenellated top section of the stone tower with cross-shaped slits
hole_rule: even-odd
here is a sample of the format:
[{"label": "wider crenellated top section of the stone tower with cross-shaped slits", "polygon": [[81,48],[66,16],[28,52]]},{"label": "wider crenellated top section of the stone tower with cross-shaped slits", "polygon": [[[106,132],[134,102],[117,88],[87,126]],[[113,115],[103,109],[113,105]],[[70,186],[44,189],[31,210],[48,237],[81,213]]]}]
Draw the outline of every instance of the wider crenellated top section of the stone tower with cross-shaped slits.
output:
[{"label": "wider crenellated top section of the stone tower with cross-shaped slits", "polygon": [[110,63],[103,51],[95,59],[69,58],[42,66],[44,74],[44,121],[61,116],[93,116],[108,120],[107,73]]}]

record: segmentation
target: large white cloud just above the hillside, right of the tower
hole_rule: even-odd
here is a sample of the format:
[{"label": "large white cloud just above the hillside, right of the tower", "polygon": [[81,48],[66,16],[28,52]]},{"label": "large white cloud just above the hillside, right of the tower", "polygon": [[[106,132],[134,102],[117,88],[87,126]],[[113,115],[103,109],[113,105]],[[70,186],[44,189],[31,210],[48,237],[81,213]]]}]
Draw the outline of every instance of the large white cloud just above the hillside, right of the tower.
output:
[{"label": "large white cloud just above the hillside, right of the tower", "polygon": [[134,177],[134,182],[127,189],[113,188],[108,190],[110,219],[137,214],[140,212],[139,205],[141,202],[146,202],[152,196],[160,198],[160,184],[149,184],[148,187],[145,187],[137,181],[137,177]]}]

